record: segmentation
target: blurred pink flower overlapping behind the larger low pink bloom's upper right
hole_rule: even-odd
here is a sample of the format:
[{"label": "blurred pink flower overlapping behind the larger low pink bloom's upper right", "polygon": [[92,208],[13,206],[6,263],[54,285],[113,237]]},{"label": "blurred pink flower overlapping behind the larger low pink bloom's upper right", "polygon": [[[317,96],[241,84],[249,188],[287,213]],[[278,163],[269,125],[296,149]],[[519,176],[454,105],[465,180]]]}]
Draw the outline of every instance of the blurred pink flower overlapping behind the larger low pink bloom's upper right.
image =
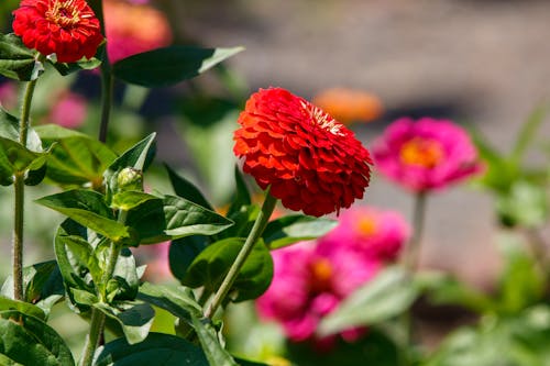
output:
[{"label": "blurred pink flower overlapping behind the larger low pink bloom's upper right", "polygon": [[344,211],[338,226],[320,240],[319,251],[331,252],[345,245],[356,255],[391,262],[397,259],[409,235],[410,228],[399,212],[353,207]]}]

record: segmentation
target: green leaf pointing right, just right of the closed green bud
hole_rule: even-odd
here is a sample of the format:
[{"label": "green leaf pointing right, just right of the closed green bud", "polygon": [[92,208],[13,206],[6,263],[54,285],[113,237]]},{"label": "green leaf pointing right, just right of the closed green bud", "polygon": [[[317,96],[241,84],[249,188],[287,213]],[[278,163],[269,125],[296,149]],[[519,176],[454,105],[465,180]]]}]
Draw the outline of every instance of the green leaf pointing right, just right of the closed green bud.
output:
[{"label": "green leaf pointing right, just right of the closed green bud", "polygon": [[129,211],[127,224],[135,229],[142,244],[153,244],[196,234],[213,235],[233,222],[186,199],[165,196]]}]

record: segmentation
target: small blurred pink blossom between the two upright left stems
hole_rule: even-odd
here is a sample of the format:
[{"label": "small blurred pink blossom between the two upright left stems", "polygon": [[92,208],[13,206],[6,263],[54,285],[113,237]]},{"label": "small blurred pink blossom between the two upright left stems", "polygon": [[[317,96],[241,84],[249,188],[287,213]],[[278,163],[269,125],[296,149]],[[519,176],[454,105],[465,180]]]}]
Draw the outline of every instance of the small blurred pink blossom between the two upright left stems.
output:
[{"label": "small blurred pink blossom between the two upright left stems", "polygon": [[50,111],[48,122],[67,129],[79,127],[86,120],[87,109],[84,97],[70,91],[63,92]]}]

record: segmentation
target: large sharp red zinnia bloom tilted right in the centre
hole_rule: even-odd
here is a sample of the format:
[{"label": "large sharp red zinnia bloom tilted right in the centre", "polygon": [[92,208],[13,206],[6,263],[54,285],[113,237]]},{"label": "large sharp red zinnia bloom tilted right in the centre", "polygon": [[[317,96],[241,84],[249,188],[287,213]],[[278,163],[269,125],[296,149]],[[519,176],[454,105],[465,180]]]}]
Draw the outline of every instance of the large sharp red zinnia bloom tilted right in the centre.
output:
[{"label": "large sharp red zinnia bloom tilted right in the centre", "polygon": [[320,217],[348,208],[369,186],[371,157],[353,132],[280,88],[252,95],[239,117],[234,153],[243,170],[283,206]]}]

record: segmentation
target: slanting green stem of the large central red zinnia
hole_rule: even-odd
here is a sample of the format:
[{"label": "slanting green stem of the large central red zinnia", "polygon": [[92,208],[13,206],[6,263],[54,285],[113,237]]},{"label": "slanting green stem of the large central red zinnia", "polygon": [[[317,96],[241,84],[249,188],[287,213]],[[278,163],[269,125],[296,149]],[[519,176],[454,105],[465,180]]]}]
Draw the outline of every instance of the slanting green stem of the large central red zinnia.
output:
[{"label": "slanting green stem of the large central red zinnia", "polygon": [[223,302],[223,300],[226,299],[226,297],[228,296],[229,290],[233,286],[233,282],[235,281],[237,277],[239,276],[239,271],[244,265],[244,262],[246,260],[250,253],[254,248],[254,244],[262,236],[265,225],[267,224],[267,221],[270,220],[273,210],[275,209],[275,203],[277,203],[277,199],[272,195],[270,195],[270,189],[267,189],[265,201],[264,204],[262,206],[262,210],[257,214],[256,221],[254,222],[254,225],[252,226],[252,230],[249,233],[249,236],[246,237],[243,247],[239,252],[235,262],[233,262],[233,264],[229,268],[229,271],[226,275],[223,281],[221,282],[220,288],[218,289],[218,291],[213,296],[212,301],[205,311],[206,318],[211,319],[215,315],[218,308]]}]

